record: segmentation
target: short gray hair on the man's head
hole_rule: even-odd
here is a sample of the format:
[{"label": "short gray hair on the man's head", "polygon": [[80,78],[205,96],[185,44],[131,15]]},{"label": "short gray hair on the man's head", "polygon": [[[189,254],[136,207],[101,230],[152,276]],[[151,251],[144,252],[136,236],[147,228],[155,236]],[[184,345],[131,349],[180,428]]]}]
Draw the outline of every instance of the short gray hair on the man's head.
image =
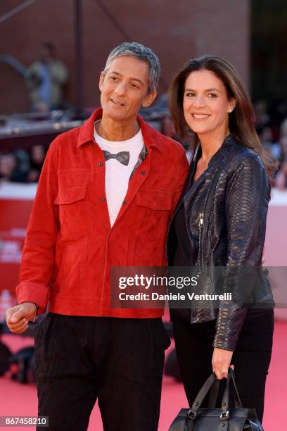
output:
[{"label": "short gray hair on the man's head", "polygon": [[148,92],[155,92],[158,87],[158,80],[160,79],[160,62],[155,53],[147,46],[138,44],[137,42],[124,42],[116,46],[108,56],[104,69],[105,75],[114,58],[122,56],[131,56],[148,63]]}]

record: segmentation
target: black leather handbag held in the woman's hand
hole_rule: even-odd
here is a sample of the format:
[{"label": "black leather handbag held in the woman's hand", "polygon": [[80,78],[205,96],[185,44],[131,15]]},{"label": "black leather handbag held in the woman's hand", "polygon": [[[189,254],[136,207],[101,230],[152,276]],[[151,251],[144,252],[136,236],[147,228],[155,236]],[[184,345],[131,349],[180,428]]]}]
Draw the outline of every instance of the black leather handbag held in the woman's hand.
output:
[{"label": "black leather handbag held in the woman's hand", "polygon": [[[230,382],[234,385],[235,408],[229,408]],[[221,408],[215,408],[218,389],[219,380],[215,373],[212,373],[198,392],[192,407],[181,408],[169,431],[263,431],[255,408],[242,408],[234,371],[231,368],[229,368]],[[208,392],[210,392],[208,403],[210,408],[200,408]]]}]

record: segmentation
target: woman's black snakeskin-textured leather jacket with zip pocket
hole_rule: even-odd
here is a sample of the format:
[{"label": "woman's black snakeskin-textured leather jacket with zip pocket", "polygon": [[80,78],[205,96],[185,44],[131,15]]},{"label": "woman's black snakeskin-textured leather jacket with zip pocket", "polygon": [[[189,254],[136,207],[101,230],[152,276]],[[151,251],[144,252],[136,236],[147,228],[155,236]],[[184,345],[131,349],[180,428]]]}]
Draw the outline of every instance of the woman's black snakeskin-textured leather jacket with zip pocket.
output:
[{"label": "woman's black snakeskin-textured leather jacket with zip pocket", "polygon": [[[211,158],[208,169],[191,186],[200,153],[198,146],[177,208],[184,201],[190,239],[200,226],[198,264],[226,267],[224,291],[233,292],[236,289],[234,268],[261,268],[269,180],[260,157],[229,135]],[[176,241],[171,224],[167,238],[169,266],[172,266]],[[209,287],[204,286],[200,293],[209,292]],[[234,351],[246,312],[247,308],[224,308],[224,304],[218,310],[195,308],[191,311],[191,323],[216,318],[213,346]]]}]

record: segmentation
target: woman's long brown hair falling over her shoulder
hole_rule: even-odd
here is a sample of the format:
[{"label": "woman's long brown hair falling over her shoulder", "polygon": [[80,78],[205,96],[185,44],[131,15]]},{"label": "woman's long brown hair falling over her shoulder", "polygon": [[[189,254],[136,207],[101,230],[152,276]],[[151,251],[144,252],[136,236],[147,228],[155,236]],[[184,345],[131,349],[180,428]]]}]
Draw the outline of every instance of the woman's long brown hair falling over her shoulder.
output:
[{"label": "woman's long brown hair falling over her shoulder", "polygon": [[[235,99],[236,106],[229,113],[229,130],[239,144],[253,149],[260,156],[269,178],[272,179],[277,164],[274,160],[264,156],[262,144],[255,130],[254,111],[248,92],[246,92],[237,70],[224,58],[217,56],[193,58],[187,61],[175,75],[170,84],[169,104],[177,133],[184,138],[191,132],[184,118],[184,86],[186,78],[196,70],[210,70],[223,82],[229,99]],[[193,134],[193,147],[197,139],[197,135]]]}]

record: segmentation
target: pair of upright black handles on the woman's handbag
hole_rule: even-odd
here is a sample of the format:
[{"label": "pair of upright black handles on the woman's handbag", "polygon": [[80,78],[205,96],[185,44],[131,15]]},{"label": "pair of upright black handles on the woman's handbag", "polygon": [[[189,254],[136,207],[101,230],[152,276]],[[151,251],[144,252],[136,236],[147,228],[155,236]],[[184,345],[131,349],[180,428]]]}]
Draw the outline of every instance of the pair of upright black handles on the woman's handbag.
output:
[{"label": "pair of upright black handles on the woman's handbag", "polygon": [[[200,391],[198,392],[198,395],[196,396],[195,401],[193,402],[193,405],[191,406],[191,408],[189,409],[189,412],[187,413],[187,416],[189,417],[189,419],[193,420],[194,418],[196,418],[198,409],[200,408],[200,406],[203,402],[203,399],[205,399],[205,396],[208,394],[208,392],[210,391],[210,388],[212,387],[212,385],[215,383],[216,380],[217,380],[217,377],[216,377],[215,373],[212,373],[210,375],[210,377],[208,377],[208,380],[206,380],[206,382],[203,384],[203,387],[201,387]],[[234,370],[232,370],[232,368],[229,368],[228,376],[227,376],[227,385],[225,387],[224,396],[222,398],[222,415],[221,415],[222,419],[229,417],[229,410],[228,409],[229,409],[229,382],[230,382],[230,380],[232,380],[232,382],[234,384],[234,388],[235,388],[236,408],[242,408],[241,399],[240,399],[240,396],[238,394],[238,390],[237,390],[236,383],[235,383]],[[218,394],[218,387],[217,387],[217,394]],[[212,399],[213,400],[215,399],[215,394],[213,395]]]}]

